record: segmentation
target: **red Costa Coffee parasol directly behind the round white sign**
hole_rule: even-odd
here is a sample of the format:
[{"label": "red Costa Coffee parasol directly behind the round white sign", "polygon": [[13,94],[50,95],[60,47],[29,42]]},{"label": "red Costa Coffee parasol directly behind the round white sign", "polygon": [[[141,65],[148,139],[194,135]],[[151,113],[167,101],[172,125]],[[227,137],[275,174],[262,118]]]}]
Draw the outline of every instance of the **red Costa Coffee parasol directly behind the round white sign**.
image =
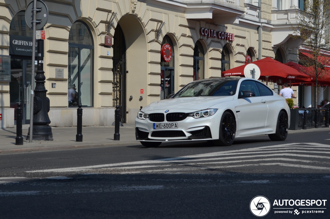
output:
[{"label": "red Costa Coffee parasol directly behind the round white sign", "polygon": [[[311,77],[307,74],[300,72],[292,67],[284,65],[270,57],[260,59],[252,62],[260,68],[260,79],[265,79],[266,76],[270,80],[286,79],[295,82],[311,81]],[[244,68],[246,65],[238,66],[226,71],[221,72],[222,76],[241,76],[244,77]]]}]

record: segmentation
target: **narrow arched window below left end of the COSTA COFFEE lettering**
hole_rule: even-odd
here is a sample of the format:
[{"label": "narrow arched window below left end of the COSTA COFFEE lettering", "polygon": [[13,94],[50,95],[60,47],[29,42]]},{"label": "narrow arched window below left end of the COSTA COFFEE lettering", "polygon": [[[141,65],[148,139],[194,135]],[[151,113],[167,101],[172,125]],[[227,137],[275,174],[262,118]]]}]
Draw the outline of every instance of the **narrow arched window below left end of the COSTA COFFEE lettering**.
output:
[{"label": "narrow arched window below left end of the COSTA COFFEE lettering", "polygon": [[200,41],[197,41],[195,44],[193,59],[193,80],[204,79],[204,50]]}]

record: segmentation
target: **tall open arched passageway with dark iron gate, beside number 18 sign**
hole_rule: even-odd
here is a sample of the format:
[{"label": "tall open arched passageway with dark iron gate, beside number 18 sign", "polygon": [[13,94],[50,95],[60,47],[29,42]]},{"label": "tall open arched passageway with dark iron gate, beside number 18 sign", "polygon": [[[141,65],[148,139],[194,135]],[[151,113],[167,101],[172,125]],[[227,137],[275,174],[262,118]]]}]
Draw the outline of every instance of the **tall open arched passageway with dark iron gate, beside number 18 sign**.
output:
[{"label": "tall open arched passageway with dark iron gate, beside number 18 sign", "polygon": [[151,64],[145,29],[134,15],[119,19],[112,48],[113,72],[121,74],[116,80],[114,74],[113,103],[120,107],[121,123],[134,123],[140,107],[147,106],[149,97],[154,95],[150,95],[149,86],[158,86],[150,83],[150,77],[156,73],[148,68]]}]

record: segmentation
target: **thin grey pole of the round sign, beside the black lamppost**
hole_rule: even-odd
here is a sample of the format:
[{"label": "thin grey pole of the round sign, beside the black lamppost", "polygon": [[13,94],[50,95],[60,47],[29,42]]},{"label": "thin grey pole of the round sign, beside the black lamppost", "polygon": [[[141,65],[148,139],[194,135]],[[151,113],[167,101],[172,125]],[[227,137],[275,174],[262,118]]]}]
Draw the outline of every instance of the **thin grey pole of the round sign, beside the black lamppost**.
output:
[{"label": "thin grey pole of the round sign, beside the black lamppost", "polygon": [[34,103],[34,72],[35,72],[35,60],[36,60],[36,22],[37,22],[37,0],[33,0],[33,21],[32,21],[32,76],[31,76],[31,97],[30,97],[30,138],[29,142],[32,142],[33,136],[33,103]]}]

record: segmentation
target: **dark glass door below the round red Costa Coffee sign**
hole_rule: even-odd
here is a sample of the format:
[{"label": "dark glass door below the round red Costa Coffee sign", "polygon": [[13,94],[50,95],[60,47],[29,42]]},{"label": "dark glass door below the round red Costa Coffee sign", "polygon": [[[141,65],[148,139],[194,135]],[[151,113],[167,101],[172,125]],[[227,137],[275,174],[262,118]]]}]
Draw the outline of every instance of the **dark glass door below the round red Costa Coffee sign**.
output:
[{"label": "dark glass door below the round red Costa Coffee sign", "polygon": [[160,71],[160,99],[164,100],[168,95],[174,94],[174,70],[165,68]]}]

